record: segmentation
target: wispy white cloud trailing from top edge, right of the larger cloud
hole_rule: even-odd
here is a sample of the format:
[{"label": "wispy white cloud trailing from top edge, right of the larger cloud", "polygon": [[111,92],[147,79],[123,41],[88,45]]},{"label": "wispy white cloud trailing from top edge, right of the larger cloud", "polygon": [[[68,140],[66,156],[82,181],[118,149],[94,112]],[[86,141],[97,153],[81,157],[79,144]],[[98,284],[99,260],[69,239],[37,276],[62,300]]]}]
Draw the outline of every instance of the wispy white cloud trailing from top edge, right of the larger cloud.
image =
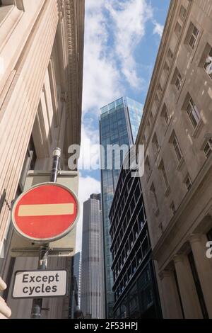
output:
[{"label": "wispy white cloud trailing from top edge, right of the larger cloud", "polygon": [[134,50],[145,35],[146,22],[153,11],[146,0],[107,1],[107,10],[114,21],[114,47],[122,74],[130,86],[141,89],[143,80],[136,72]]}]

